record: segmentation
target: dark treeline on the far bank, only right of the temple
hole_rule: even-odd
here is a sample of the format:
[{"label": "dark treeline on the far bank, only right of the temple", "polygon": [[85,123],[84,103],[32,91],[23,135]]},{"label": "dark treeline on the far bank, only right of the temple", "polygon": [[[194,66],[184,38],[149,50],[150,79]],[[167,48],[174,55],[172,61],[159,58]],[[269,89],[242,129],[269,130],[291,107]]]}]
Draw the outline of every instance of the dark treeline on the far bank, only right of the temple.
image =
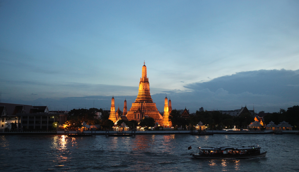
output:
[{"label": "dark treeline on the far bank, only right of the temple", "polygon": [[[258,114],[257,114],[258,116]],[[196,114],[190,114],[190,118],[183,118],[180,115],[180,111],[174,109],[169,116],[173,127],[178,128],[182,126],[186,128],[188,125],[196,126],[201,121],[208,128],[222,129],[232,128],[236,125],[236,128],[247,128],[247,126],[254,122],[254,116],[251,113],[244,113],[238,117],[233,117],[229,114],[222,114],[220,111],[196,111]],[[286,121],[293,127],[299,126],[299,106],[293,106],[288,110],[280,109],[280,112],[267,114],[264,116],[264,124],[269,124],[273,121],[276,125],[280,122]],[[297,128],[294,128],[297,130]]]}]

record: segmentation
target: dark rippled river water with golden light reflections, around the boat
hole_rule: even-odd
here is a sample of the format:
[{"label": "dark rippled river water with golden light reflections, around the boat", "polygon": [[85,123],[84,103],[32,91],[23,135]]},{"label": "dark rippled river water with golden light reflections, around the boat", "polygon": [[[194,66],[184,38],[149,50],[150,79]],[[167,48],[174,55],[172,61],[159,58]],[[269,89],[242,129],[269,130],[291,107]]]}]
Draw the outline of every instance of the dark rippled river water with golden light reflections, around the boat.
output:
[{"label": "dark rippled river water with golden light reflections, around the boat", "polygon": [[[0,137],[0,171],[299,171],[296,134]],[[190,156],[199,146],[257,144],[267,151],[266,157],[205,160]]]}]

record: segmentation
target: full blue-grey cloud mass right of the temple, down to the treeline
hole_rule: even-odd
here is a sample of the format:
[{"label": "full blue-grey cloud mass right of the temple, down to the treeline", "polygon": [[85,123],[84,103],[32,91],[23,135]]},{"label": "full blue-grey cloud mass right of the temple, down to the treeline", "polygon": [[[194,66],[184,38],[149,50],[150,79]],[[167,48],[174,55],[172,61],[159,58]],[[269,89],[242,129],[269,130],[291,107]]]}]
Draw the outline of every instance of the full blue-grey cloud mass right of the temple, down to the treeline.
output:
[{"label": "full blue-grey cloud mass right of the temple, down to the treeline", "polygon": [[207,110],[233,110],[247,105],[248,109],[275,112],[298,105],[299,70],[259,70],[239,72],[208,82],[188,84],[191,92],[172,94],[172,104]]}]

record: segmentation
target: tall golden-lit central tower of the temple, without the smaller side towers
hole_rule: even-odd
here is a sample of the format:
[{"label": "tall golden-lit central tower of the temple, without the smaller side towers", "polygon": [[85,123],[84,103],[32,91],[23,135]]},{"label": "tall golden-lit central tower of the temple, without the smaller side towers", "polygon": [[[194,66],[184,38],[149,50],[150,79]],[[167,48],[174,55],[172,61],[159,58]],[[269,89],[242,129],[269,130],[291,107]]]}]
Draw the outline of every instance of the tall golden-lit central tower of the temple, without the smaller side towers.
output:
[{"label": "tall golden-lit central tower of the temple, without the smaller side towers", "polygon": [[127,113],[128,120],[140,121],[144,116],[149,116],[161,123],[163,117],[156,107],[156,103],[152,101],[149,92],[149,78],[147,78],[147,66],[142,66],[142,75],[139,82],[138,96],[131,109]]}]

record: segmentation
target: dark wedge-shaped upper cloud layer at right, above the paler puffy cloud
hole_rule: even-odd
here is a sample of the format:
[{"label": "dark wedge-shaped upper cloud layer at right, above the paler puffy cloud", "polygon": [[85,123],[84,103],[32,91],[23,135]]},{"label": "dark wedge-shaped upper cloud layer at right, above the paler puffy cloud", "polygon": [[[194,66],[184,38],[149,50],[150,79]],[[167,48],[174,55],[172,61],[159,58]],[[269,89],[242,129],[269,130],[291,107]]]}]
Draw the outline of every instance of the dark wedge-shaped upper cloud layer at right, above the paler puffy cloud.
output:
[{"label": "dark wedge-shaped upper cloud layer at right, above the paler puffy cloud", "polygon": [[209,89],[216,92],[222,88],[229,94],[263,94],[286,97],[298,100],[299,70],[259,70],[239,72],[222,76],[209,82],[188,84],[185,87],[193,90]]}]

